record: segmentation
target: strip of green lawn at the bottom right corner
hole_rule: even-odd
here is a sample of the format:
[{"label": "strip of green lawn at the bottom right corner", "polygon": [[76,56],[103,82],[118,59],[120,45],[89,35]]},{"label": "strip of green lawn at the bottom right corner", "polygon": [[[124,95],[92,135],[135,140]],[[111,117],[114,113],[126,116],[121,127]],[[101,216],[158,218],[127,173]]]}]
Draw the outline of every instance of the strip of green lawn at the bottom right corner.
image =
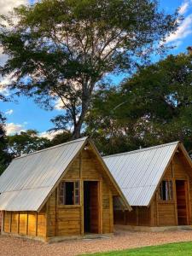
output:
[{"label": "strip of green lawn at the bottom right corner", "polygon": [[170,243],[154,247],[141,247],[137,249],[129,249],[124,251],[115,251],[110,253],[94,253],[86,254],[86,256],[188,256],[192,255],[192,241]]}]

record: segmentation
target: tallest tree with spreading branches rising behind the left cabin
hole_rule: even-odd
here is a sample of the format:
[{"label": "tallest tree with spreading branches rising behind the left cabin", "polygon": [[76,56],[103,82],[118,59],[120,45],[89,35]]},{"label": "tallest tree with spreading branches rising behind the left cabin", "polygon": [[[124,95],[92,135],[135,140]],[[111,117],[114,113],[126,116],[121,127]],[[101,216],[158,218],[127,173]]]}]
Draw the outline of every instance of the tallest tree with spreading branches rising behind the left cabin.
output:
[{"label": "tallest tree with spreading branches rising behind the left cabin", "polygon": [[[135,70],[177,29],[154,0],[43,0],[4,17],[0,42],[9,60],[9,87],[44,108],[59,99],[62,129],[80,137],[96,86],[109,73]],[[16,23],[12,20],[17,20]]]}]

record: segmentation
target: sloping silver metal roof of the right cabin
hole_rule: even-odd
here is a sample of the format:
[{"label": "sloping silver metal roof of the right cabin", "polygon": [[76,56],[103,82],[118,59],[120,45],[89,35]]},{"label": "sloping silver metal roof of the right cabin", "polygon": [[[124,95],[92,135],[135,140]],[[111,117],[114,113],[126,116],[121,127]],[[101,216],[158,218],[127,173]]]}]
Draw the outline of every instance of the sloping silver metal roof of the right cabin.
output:
[{"label": "sloping silver metal roof of the right cabin", "polygon": [[179,142],[103,157],[131,206],[148,206]]}]

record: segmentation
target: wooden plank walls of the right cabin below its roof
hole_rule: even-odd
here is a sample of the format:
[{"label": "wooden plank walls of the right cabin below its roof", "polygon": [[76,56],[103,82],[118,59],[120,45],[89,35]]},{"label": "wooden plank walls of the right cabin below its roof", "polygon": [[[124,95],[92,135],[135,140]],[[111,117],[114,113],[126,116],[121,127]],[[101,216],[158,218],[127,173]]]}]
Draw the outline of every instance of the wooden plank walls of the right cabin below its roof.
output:
[{"label": "wooden plank walls of the right cabin below its roof", "polygon": [[186,193],[181,196],[182,198],[185,197],[187,206],[188,221],[186,224],[192,224],[192,170],[181,152],[174,155],[162,180],[172,180],[172,201],[160,201],[158,188],[149,207],[132,207],[133,211],[131,212],[115,211],[114,224],[136,226],[175,226],[179,224],[177,218],[177,193],[179,193],[176,191],[177,180],[183,180],[186,183]]}]

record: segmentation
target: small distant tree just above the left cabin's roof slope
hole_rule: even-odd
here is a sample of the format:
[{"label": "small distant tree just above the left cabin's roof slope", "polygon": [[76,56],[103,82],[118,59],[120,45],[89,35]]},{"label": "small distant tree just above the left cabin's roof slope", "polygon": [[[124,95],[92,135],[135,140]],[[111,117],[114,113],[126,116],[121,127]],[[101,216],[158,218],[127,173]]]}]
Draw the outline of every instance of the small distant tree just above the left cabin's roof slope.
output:
[{"label": "small distant tree just above the left cabin's roof slope", "polygon": [[49,140],[44,137],[38,137],[38,131],[34,130],[21,131],[20,134],[8,137],[9,152],[14,157],[19,157],[22,154],[30,154],[34,151],[48,148],[49,146]]}]

